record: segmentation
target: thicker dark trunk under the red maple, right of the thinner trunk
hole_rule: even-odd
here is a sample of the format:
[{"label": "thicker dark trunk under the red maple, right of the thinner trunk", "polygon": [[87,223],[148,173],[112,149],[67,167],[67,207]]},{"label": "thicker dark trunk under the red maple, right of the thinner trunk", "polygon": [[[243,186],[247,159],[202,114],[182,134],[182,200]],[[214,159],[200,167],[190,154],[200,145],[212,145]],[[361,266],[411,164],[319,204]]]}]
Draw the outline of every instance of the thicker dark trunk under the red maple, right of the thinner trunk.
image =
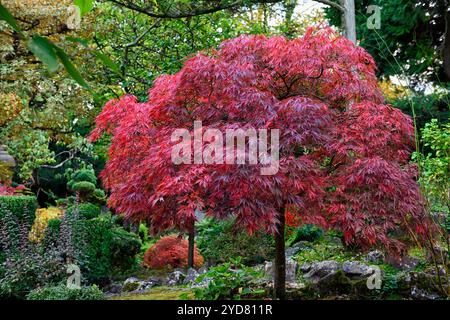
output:
[{"label": "thicker dark trunk under the red maple, right of the thinner trunk", "polygon": [[283,300],[286,297],[286,253],[284,244],[285,216],[284,208],[278,214],[279,223],[275,233],[275,266],[274,290],[275,297]]}]

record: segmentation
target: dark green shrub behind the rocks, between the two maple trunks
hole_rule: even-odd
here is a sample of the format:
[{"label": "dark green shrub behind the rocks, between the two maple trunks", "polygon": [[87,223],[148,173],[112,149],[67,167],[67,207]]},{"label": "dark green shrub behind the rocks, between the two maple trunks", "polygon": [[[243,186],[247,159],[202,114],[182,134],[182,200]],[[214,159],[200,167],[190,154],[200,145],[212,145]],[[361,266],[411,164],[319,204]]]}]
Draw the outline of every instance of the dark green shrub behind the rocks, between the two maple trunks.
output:
[{"label": "dark green shrub behind the rocks, between the two maple trunks", "polygon": [[273,239],[256,232],[249,235],[235,228],[233,220],[205,218],[197,224],[197,247],[206,261],[222,263],[242,257],[245,264],[262,263],[273,257]]}]

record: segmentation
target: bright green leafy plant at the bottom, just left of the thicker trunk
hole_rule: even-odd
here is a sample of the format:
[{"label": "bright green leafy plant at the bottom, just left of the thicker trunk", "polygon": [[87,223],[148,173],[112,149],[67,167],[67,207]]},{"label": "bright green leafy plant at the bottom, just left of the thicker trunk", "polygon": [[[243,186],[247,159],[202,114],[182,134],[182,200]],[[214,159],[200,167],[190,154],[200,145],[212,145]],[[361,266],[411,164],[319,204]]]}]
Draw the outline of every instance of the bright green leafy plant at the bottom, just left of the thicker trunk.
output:
[{"label": "bright green leafy plant at the bottom, just left of the thicker trunk", "polygon": [[242,298],[257,298],[264,294],[264,290],[252,289],[252,281],[262,274],[253,268],[246,267],[238,258],[211,268],[200,275],[196,282],[208,279],[206,288],[195,288],[195,298],[199,300],[223,300]]}]

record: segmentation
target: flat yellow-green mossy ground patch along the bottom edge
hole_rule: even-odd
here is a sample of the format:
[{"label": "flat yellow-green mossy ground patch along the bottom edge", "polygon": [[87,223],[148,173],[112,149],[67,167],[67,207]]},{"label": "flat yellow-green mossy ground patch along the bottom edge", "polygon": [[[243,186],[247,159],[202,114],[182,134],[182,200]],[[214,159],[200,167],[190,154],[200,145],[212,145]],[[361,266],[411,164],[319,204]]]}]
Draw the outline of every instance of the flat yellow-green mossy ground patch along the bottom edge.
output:
[{"label": "flat yellow-green mossy ground patch along the bottom edge", "polygon": [[155,287],[145,293],[133,293],[111,297],[111,300],[181,300],[194,299],[194,294],[183,287]]}]

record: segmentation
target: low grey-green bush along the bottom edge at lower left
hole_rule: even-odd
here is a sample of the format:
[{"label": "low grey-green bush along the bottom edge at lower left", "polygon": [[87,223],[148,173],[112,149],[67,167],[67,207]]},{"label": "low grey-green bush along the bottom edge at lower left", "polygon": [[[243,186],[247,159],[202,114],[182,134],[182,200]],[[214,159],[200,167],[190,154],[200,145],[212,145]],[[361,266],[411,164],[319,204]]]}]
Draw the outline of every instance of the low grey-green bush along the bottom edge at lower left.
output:
[{"label": "low grey-green bush along the bottom edge at lower left", "polygon": [[27,300],[103,300],[103,292],[96,286],[69,289],[65,284],[31,291]]}]

